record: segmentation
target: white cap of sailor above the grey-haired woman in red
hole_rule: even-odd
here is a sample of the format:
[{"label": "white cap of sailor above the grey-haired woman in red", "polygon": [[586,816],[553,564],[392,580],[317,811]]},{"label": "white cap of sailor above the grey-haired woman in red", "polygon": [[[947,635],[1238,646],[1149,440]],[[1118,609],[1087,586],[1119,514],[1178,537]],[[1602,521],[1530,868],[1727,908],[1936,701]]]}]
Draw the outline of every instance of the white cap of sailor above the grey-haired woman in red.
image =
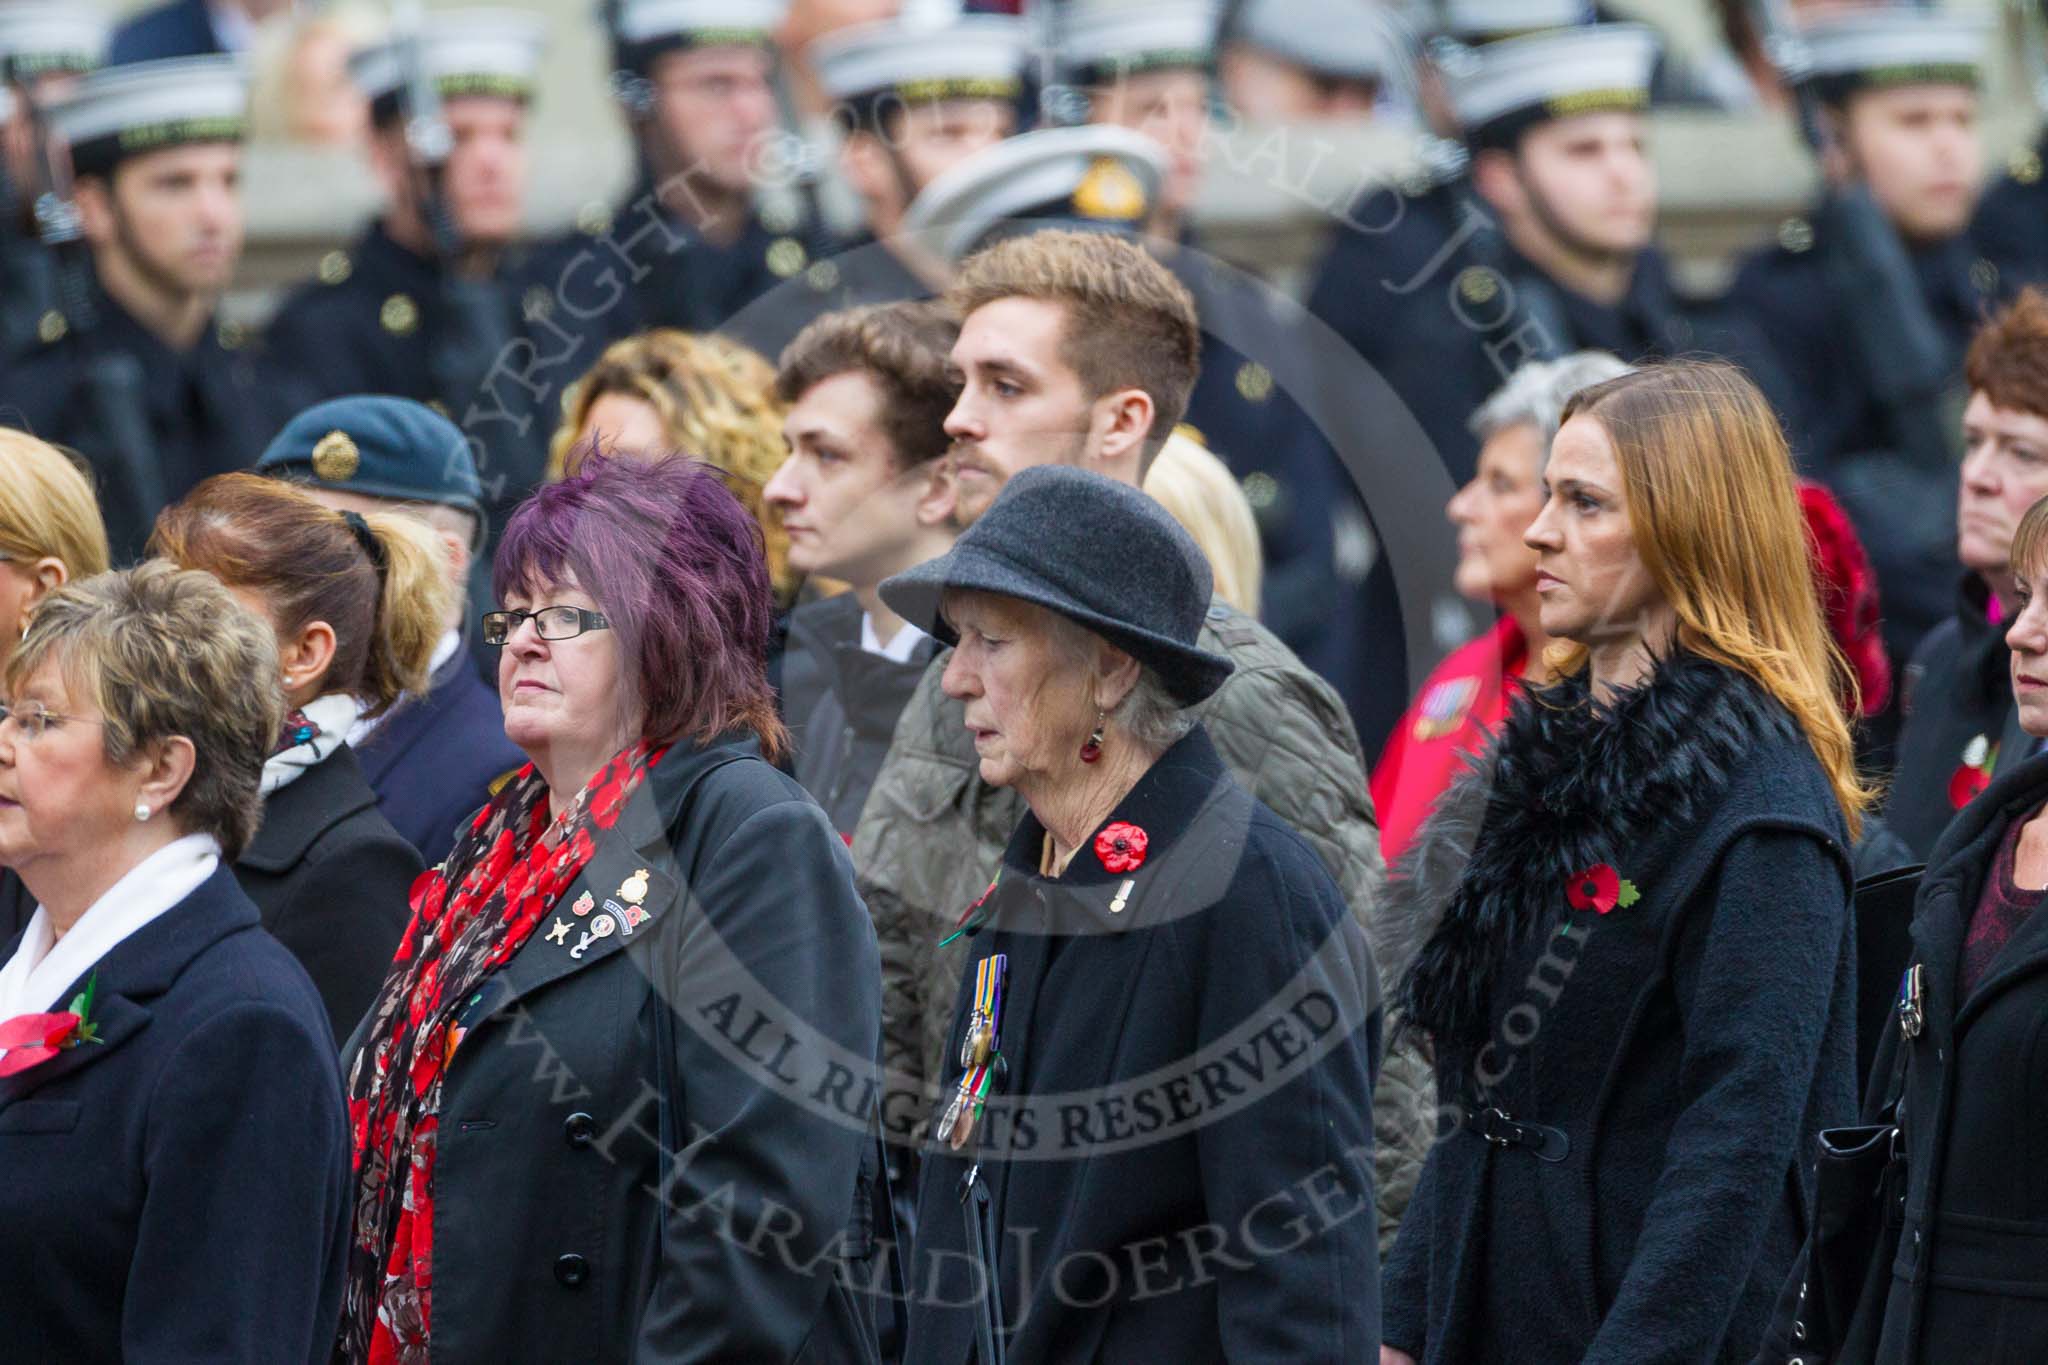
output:
[{"label": "white cap of sailor above the grey-haired woman in red", "polygon": [[1651,102],[1657,35],[1642,25],[1581,25],[1466,49],[1446,70],[1450,106],[1468,141],[1511,141],[1571,115]]}]

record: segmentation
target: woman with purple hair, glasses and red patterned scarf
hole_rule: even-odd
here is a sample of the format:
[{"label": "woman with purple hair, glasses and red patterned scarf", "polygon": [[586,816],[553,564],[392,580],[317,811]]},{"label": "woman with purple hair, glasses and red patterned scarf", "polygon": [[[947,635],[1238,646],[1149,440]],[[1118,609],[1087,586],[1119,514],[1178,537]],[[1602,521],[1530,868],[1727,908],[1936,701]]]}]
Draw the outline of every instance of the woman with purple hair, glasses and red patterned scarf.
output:
[{"label": "woman with purple hair, glasses and red patterned scarf", "polygon": [[694,460],[590,458],[496,589],[532,761],[414,886],[342,1054],[336,1359],[877,1359],[881,964],[772,767],[760,528]]}]

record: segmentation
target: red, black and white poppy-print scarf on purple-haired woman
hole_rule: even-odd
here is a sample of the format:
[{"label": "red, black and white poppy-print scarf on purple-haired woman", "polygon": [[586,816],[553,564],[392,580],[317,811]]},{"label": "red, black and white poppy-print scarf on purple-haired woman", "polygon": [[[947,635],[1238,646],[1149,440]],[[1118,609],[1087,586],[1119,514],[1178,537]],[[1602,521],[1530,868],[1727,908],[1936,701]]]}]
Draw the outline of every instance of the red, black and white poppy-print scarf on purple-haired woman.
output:
[{"label": "red, black and white poppy-print scarf on purple-haired woman", "polygon": [[662,749],[621,751],[549,827],[528,763],[440,868],[412,884],[412,923],[348,1070],[356,1203],[336,1361],[426,1363],[434,1271],[434,1130],[446,1036],[463,1001],[532,937]]}]

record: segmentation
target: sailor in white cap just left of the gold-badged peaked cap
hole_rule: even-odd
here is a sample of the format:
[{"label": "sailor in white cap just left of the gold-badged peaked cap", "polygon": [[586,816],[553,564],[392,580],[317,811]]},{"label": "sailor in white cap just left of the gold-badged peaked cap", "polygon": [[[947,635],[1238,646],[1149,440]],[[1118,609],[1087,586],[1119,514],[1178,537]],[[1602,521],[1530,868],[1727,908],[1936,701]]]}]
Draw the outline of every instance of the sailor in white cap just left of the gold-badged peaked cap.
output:
[{"label": "sailor in white cap just left of the gold-badged peaked cap", "polygon": [[811,43],[805,63],[831,102],[840,172],[866,229],[745,309],[733,332],[774,356],[823,313],[944,289],[950,264],[903,233],[903,215],[944,172],[1016,131],[1028,41],[1008,14],[911,10]]}]

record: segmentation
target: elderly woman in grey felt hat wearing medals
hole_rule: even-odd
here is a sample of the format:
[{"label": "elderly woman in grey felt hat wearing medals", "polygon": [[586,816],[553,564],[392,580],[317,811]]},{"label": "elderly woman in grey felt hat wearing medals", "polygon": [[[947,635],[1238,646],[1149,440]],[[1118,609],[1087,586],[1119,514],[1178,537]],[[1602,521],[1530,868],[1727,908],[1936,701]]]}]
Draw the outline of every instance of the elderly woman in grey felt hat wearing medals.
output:
[{"label": "elderly woman in grey felt hat wearing medals", "polygon": [[1040,467],[881,591],[1030,806],[956,929],[907,1359],[1370,1359],[1372,960],[1192,710],[1200,551]]}]

